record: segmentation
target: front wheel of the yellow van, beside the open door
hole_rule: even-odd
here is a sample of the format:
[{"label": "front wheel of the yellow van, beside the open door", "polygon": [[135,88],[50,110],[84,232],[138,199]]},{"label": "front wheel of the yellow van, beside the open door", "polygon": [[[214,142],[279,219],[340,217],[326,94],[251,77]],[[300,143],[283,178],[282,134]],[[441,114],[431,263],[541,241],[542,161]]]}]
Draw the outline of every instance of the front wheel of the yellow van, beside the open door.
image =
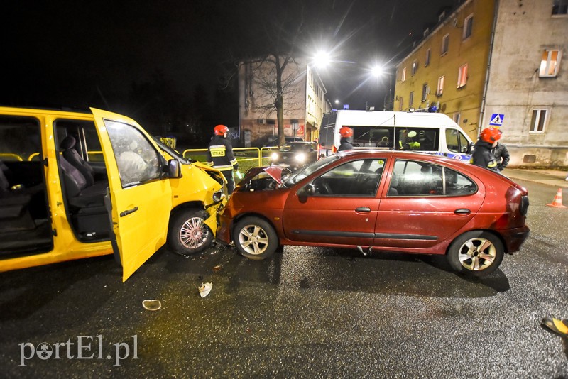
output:
[{"label": "front wheel of the yellow van, beside the open door", "polygon": [[211,246],[213,232],[205,224],[207,212],[195,209],[173,217],[168,231],[168,245],[180,256],[191,256]]}]

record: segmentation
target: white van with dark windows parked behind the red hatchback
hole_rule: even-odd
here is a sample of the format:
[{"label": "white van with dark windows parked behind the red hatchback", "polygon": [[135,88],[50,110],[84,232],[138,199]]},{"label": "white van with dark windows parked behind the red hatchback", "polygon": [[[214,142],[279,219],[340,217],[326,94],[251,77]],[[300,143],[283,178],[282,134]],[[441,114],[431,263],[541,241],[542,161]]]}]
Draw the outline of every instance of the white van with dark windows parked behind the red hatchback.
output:
[{"label": "white van with dark windows parked behind the red hatchback", "polygon": [[441,113],[340,110],[325,114],[320,128],[320,156],[339,148],[339,129],[353,129],[354,149],[415,150],[469,162],[473,142]]}]

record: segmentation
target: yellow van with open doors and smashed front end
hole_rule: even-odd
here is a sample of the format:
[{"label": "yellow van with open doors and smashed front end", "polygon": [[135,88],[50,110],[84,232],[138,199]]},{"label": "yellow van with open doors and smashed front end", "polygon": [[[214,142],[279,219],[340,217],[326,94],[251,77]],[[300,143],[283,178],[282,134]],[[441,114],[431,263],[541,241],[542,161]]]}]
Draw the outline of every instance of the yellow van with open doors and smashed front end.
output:
[{"label": "yellow van with open doors and smashed front end", "polygon": [[218,170],[120,114],[0,107],[0,271],[114,253],[123,281],[168,241],[209,247]]}]

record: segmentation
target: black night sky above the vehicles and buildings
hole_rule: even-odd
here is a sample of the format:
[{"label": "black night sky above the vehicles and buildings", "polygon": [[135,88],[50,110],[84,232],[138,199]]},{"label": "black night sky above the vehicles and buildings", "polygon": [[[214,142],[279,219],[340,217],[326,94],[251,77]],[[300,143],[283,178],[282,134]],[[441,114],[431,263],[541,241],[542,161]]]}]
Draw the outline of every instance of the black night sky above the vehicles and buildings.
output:
[{"label": "black night sky above the vehicles and buildings", "polygon": [[[0,104],[99,106],[132,116],[148,106],[126,101],[133,86],[156,77],[182,104],[195,98],[198,84],[213,101],[228,62],[256,44],[247,31],[259,18],[273,17],[263,16],[266,8],[251,11],[255,1],[5,1]],[[375,63],[393,67],[412,42],[410,33],[421,35],[442,6],[455,3],[306,1],[310,32],[299,48],[306,56],[320,48],[332,53],[332,65],[321,72],[330,100],[351,109],[382,107],[388,76],[368,80],[367,69]],[[288,1],[262,4],[277,9]]]}]

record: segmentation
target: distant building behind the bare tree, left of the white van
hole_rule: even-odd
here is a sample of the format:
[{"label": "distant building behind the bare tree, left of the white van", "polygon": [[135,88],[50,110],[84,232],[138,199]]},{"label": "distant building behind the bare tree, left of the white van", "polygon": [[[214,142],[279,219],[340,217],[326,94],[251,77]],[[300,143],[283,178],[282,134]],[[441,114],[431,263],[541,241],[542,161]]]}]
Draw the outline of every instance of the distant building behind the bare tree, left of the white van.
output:
[{"label": "distant building behind the bare tree, left of the white van", "polygon": [[[261,146],[278,137],[275,103],[275,65],[270,59],[239,65],[239,128],[245,146]],[[331,109],[317,73],[302,59],[288,62],[281,77],[284,134],[313,141],[324,112]]]}]

